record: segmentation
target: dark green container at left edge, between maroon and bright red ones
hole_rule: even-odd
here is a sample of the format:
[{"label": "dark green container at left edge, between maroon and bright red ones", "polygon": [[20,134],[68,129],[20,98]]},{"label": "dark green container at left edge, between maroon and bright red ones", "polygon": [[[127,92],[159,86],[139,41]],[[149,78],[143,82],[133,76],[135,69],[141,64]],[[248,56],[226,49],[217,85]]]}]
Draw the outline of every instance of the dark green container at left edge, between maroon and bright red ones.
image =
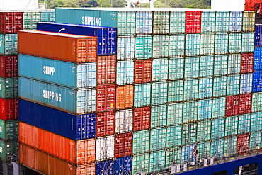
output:
[{"label": "dark green container at left edge, between maroon and bright red ones", "polygon": [[0,98],[11,99],[18,97],[18,77],[0,77]]}]

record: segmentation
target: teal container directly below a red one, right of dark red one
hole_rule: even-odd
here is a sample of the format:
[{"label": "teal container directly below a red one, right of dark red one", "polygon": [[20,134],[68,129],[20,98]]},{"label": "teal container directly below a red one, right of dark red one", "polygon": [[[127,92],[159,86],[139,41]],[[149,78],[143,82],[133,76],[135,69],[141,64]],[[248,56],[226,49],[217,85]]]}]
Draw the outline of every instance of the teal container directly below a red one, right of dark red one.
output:
[{"label": "teal container directly below a red one, right of dark red one", "polygon": [[150,140],[150,131],[149,130],[140,130],[133,132],[133,144],[132,144],[132,153],[142,154],[149,152],[149,140]]}]

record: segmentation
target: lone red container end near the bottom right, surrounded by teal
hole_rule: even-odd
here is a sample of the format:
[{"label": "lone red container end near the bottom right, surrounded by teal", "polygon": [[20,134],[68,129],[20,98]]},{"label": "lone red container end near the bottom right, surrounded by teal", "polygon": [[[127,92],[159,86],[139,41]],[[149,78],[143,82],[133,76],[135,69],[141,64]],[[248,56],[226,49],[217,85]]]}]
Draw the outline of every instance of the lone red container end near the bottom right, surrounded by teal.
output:
[{"label": "lone red container end near the bottom right, surrounded by teal", "polygon": [[246,154],[249,152],[250,133],[239,135],[237,137],[237,154]]}]

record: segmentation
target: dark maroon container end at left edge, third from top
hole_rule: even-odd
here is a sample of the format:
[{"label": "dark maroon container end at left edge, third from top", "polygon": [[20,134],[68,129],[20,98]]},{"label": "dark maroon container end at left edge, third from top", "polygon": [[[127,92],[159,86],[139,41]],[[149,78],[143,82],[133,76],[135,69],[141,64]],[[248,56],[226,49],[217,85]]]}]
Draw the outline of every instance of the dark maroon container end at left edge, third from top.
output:
[{"label": "dark maroon container end at left edge, third from top", "polygon": [[18,56],[0,55],[1,67],[0,77],[18,77]]}]

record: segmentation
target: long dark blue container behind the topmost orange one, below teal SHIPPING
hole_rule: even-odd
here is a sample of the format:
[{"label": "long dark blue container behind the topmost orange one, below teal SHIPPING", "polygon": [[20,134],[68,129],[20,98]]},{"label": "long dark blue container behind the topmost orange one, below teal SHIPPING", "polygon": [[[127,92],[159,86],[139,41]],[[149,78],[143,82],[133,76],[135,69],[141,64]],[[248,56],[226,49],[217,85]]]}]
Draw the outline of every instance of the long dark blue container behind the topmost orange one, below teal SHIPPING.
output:
[{"label": "long dark blue container behind the topmost orange one, below teal SHIPPING", "polygon": [[116,28],[46,22],[38,23],[37,30],[95,36],[98,38],[98,56],[115,55],[116,53]]}]

